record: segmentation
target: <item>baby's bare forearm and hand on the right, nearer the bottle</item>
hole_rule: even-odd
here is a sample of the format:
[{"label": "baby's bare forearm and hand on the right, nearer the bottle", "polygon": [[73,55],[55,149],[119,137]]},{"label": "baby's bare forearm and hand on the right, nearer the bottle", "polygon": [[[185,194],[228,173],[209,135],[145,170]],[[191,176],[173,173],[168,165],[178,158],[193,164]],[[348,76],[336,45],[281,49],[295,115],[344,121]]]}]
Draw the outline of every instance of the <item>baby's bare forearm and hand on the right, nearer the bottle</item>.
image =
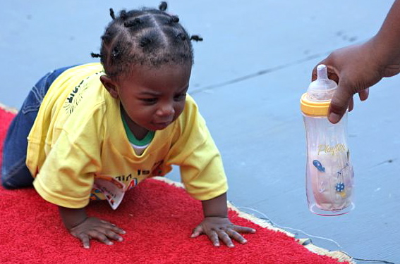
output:
[{"label": "baby's bare forearm and hand on the right, nearer the bottle", "polygon": [[219,239],[221,239],[226,246],[233,247],[231,239],[235,239],[241,244],[247,241],[242,237],[242,233],[254,233],[255,230],[250,227],[241,227],[234,225],[228,218],[228,206],[226,203],[226,193],[210,199],[202,201],[202,210],[204,220],[195,227],[191,237],[198,237],[200,234],[207,234],[207,237],[212,241],[214,246],[219,246]]}]

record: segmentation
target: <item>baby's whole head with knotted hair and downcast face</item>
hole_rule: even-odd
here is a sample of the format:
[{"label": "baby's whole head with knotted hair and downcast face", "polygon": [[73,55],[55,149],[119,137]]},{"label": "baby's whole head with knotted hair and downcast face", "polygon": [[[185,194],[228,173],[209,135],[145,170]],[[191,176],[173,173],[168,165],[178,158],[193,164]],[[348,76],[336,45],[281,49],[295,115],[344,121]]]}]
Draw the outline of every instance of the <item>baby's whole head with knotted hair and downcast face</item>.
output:
[{"label": "baby's whole head with knotted hair and downcast face", "polygon": [[[102,36],[101,77],[111,96],[138,127],[159,130],[183,111],[193,65],[191,40],[176,15],[159,9],[121,11]],[[142,113],[146,112],[146,113]],[[149,123],[152,123],[151,125]]]}]

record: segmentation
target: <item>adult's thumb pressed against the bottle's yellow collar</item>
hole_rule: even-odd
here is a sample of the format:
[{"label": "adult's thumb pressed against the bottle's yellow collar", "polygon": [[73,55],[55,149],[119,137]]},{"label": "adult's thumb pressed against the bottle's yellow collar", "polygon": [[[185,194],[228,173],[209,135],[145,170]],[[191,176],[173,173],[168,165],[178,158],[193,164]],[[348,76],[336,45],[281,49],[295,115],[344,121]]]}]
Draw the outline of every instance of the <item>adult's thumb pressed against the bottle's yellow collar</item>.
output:
[{"label": "adult's thumb pressed against the bottle's yellow collar", "polygon": [[328,109],[329,122],[336,124],[341,120],[341,118],[343,118],[344,113],[346,113],[346,110],[349,107],[349,102],[353,97],[353,94],[348,91],[349,87],[339,80],[337,90],[334,92]]}]

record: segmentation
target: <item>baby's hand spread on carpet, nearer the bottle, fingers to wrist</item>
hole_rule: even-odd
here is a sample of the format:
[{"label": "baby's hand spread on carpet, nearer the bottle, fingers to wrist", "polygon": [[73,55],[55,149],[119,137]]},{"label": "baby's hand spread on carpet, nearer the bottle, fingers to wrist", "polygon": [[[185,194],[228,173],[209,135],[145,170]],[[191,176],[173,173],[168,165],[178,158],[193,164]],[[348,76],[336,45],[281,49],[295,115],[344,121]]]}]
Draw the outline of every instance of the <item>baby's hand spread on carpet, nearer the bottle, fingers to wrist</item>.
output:
[{"label": "baby's hand spread on carpet, nearer the bottle, fingers to wrist", "polygon": [[223,217],[206,217],[200,225],[198,225],[191,235],[191,237],[198,237],[200,234],[207,234],[207,237],[212,241],[214,246],[219,246],[219,239],[221,239],[226,246],[234,247],[231,239],[235,239],[241,244],[245,244],[247,240],[242,237],[241,233],[254,233],[255,230],[250,227],[241,227],[231,223],[229,218]]}]

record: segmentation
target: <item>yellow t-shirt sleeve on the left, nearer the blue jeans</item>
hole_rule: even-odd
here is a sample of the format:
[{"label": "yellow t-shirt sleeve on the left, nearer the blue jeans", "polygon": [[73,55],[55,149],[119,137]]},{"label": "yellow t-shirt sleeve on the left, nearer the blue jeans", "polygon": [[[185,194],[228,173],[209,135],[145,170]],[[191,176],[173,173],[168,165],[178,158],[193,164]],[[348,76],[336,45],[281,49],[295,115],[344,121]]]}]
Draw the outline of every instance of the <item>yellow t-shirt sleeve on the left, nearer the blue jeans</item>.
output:
[{"label": "yellow t-shirt sleeve on the left, nearer the blue jeans", "polygon": [[92,115],[84,124],[61,130],[33,182],[44,200],[67,208],[87,206],[95,172],[101,168],[99,118]]}]

